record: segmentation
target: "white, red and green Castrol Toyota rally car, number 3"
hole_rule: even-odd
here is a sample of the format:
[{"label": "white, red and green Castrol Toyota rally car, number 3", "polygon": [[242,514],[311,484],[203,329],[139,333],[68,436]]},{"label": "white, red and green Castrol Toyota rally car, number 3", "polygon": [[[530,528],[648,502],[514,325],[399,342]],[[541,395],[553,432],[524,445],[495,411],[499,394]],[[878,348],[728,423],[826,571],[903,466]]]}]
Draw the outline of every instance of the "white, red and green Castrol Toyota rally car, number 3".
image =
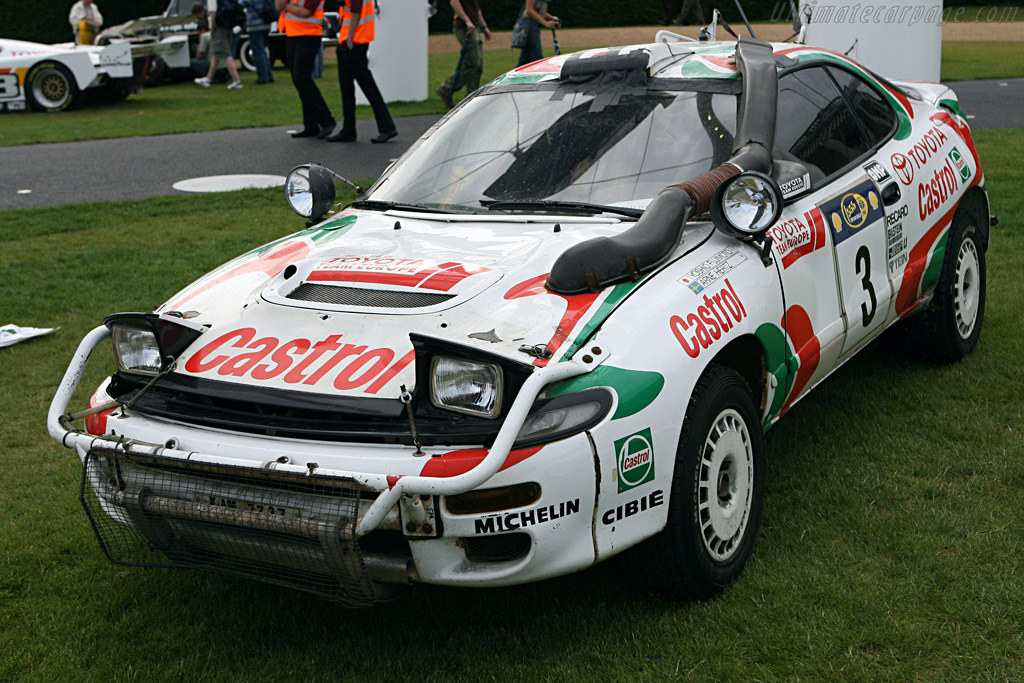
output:
[{"label": "white, red and green Castrol Toyota rally car, number 3", "polygon": [[114,562],[369,604],[632,549],[708,598],[751,557],[772,423],[890,326],[947,359],[981,333],[954,94],[820,48],[544,59],[333,215],[331,175],[289,178],[307,229],[82,341],[48,426]]}]

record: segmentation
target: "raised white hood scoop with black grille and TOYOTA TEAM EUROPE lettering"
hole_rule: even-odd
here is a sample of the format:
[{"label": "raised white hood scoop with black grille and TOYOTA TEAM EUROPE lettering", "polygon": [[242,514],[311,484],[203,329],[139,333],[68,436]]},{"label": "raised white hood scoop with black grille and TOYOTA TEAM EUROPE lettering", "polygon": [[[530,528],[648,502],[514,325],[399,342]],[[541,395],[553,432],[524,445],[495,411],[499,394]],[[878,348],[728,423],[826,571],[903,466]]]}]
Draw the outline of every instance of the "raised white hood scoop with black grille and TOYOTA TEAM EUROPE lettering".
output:
[{"label": "raised white hood scoop with black grille and TOYOTA TEAM EUROPE lettering", "polygon": [[286,268],[263,299],[317,310],[425,313],[460,304],[501,278],[499,270],[457,261],[338,256]]}]

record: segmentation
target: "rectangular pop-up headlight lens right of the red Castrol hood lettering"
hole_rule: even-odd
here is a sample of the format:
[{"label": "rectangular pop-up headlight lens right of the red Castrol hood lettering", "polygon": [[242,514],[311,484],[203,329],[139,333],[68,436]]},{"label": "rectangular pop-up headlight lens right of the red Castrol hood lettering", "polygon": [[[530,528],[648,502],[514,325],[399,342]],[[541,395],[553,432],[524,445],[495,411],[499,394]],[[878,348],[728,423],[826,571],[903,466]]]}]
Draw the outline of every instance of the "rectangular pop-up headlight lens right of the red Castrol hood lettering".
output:
[{"label": "rectangular pop-up headlight lens right of the red Castrol hood lettering", "polygon": [[493,362],[435,356],[430,402],[457,413],[495,418],[502,410],[502,369]]}]

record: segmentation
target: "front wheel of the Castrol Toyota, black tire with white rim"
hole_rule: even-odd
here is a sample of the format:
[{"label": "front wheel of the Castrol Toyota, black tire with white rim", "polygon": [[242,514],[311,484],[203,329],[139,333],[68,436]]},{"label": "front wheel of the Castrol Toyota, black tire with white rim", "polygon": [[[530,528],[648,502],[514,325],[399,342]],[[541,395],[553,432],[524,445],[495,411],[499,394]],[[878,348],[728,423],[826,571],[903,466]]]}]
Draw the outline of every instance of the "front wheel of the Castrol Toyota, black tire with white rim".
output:
[{"label": "front wheel of the Castrol Toyota, black tire with white rim", "polygon": [[751,388],[736,371],[713,365],[686,410],[666,527],[637,549],[648,587],[674,600],[719,595],[754,552],[764,490],[764,436]]}]

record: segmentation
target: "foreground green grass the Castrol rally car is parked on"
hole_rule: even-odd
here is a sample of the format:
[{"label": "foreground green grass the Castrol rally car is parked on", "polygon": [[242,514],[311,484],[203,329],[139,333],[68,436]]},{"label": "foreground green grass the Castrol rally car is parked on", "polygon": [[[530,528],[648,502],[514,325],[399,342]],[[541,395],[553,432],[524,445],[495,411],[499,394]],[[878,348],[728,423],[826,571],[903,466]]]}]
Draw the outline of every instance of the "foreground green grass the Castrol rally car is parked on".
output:
[{"label": "foreground green grass the Castrol rally car is parked on", "polygon": [[[1024,131],[977,138],[1001,220],[979,348],[952,366],[873,348],[801,401],[768,434],[754,560],[706,604],[607,565],[347,611],[108,563],[45,429],[74,348],[300,220],[280,189],[0,213],[0,323],[62,326],[0,349],[0,681],[1020,680]],[[100,351],[83,384],[110,370]]]}]

